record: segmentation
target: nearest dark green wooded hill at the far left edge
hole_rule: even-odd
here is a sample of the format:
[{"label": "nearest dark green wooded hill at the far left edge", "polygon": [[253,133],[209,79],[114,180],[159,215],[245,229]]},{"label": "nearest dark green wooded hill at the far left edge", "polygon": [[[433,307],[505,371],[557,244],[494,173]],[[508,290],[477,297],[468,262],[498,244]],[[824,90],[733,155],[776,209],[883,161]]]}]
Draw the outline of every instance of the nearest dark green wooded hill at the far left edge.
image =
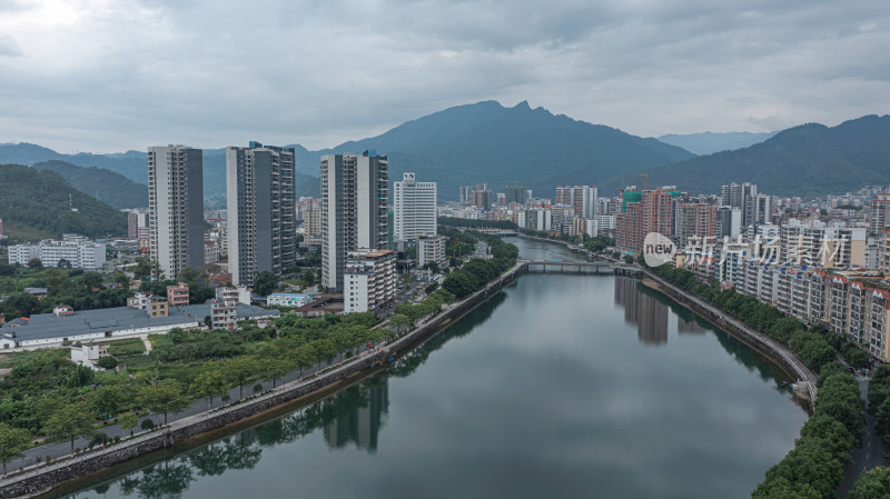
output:
[{"label": "nearest dark green wooded hill at the far left edge", "polygon": [[91,238],[127,233],[122,212],[75,189],[55,171],[21,164],[0,164],[0,219],[3,233],[13,240],[61,238],[68,232]]}]

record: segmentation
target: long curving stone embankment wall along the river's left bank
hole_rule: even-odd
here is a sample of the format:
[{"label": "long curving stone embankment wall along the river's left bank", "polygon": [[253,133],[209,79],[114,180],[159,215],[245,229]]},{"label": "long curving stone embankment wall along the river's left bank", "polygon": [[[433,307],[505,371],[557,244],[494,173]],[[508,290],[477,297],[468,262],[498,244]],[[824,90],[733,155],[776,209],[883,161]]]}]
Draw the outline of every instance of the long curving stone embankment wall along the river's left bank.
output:
[{"label": "long curving stone embankment wall along the river's left bank", "polygon": [[48,491],[58,485],[86,475],[126,462],[139,456],[165,449],[174,443],[202,433],[221,429],[260,415],[301,397],[317,393],[333,383],[368,372],[373,365],[405,351],[428,339],[444,327],[459,319],[502,288],[525,273],[526,266],[517,263],[469,297],[453,303],[428,318],[414,330],[380,346],[380,351],[350,359],[339,367],[325,371],[305,381],[291,381],[281,388],[250,398],[241,403],[227,406],[214,412],[184,418],[160,430],[121,441],[105,449],[85,452],[73,458],[47,465],[40,469],[16,475],[0,481],[0,499],[31,497]]}]

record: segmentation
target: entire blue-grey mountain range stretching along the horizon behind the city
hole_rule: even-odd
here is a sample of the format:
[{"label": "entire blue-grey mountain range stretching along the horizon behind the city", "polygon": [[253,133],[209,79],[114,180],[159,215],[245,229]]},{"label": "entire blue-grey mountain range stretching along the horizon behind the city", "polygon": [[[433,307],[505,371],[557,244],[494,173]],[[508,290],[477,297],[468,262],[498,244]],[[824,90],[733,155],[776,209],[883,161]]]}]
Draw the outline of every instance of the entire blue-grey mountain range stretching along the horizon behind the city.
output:
[{"label": "entire blue-grey mountain range stretching along the horizon behind the city", "polygon": [[[640,184],[644,171],[650,173],[649,186],[675,184],[692,192],[719,192],[721,183],[751,181],[761,192],[817,196],[887,183],[888,120],[887,116],[869,116],[833,128],[810,123],[771,137],[746,132],[662,136],[674,142],[669,144],[543,108],[532,109],[527,102],[506,108],[483,101],[445,109],[380,136],[330,149],[293,147],[298,196],[319,194],[323,154],[362,153],[367,149],[388,154],[390,181],[413,171],[421,181],[438,182],[441,200],[456,199],[459,186],[487,182],[493,191],[503,191],[513,181],[540,197],[552,197],[557,184],[576,183],[597,184],[601,196],[612,196],[620,187]],[[676,144],[695,151],[733,150],[696,156]],[[62,154],[29,143],[0,144],[0,163],[49,160],[106,168],[146,183],[145,152]],[[77,184],[76,170],[55,168]],[[204,150],[204,182],[205,198],[212,206],[224,206],[224,149]],[[95,193],[95,186],[85,190]],[[101,189],[99,199],[111,201]]]}]

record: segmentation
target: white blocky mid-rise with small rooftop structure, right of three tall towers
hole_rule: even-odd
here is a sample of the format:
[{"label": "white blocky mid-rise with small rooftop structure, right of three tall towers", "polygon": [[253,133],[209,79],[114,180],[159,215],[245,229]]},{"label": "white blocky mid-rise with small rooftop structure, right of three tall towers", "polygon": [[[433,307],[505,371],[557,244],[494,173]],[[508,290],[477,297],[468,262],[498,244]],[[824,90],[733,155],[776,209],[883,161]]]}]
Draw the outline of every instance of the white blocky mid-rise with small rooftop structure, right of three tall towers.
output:
[{"label": "white blocky mid-rise with small rooftop structure, right of three tall towers", "polygon": [[396,241],[436,236],[436,182],[418,182],[414,173],[404,173],[400,182],[393,182],[393,207]]}]

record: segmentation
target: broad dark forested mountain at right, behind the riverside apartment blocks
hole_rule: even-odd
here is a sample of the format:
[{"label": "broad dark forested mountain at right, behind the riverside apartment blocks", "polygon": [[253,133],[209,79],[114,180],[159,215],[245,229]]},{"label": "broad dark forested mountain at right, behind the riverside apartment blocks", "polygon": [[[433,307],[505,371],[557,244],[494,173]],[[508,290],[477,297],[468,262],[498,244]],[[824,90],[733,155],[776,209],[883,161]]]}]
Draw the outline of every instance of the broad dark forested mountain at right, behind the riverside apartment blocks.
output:
[{"label": "broad dark forested mountain at right, behind the riverside apartment blocks", "polygon": [[694,192],[720,192],[722,183],[732,181],[754,182],[761,192],[802,197],[886,186],[890,183],[890,116],[866,116],[832,128],[802,124],[744,149],[649,173],[650,186],[675,184]]}]

